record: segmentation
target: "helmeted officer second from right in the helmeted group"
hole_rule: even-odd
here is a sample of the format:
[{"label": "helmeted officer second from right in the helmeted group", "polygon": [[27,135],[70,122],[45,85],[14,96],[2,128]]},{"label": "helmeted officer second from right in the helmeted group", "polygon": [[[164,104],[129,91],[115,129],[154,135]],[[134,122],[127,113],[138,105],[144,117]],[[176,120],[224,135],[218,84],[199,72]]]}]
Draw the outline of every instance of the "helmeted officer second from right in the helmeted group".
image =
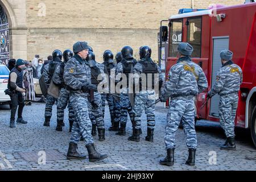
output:
[{"label": "helmeted officer second from right in the helmeted group", "polygon": [[120,118],[120,128],[118,130],[117,135],[125,135],[126,134],[126,123],[127,123],[127,111],[130,115],[130,119],[132,124],[134,125],[134,113],[133,108],[131,107],[131,102],[129,100],[129,73],[131,73],[131,69],[137,63],[137,60],[133,57],[133,49],[130,46],[125,46],[121,50],[122,52],[122,61],[117,64],[117,68],[115,69],[115,81],[119,82],[122,79],[122,74],[126,76],[125,85],[122,86],[120,90],[120,105],[121,105],[121,118]]}]

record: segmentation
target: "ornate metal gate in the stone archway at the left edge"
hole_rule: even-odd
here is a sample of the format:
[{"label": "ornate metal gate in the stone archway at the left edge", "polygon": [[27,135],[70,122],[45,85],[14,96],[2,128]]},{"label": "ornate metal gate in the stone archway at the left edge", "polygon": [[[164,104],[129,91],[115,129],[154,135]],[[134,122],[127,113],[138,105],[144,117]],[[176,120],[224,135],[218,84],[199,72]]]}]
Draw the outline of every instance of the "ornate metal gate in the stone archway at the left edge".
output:
[{"label": "ornate metal gate in the stone archway at the left edge", "polygon": [[9,50],[9,23],[5,10],[0,5],[0,62],[8,63]]}]

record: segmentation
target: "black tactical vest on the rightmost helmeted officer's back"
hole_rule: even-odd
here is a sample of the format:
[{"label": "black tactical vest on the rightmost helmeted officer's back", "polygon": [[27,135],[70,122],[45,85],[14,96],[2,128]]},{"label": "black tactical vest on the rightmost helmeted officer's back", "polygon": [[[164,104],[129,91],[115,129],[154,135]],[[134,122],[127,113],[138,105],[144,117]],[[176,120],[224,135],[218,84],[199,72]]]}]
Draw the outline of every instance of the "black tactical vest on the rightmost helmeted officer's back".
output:
[{"label": "black tactical vest on the rightmost helmeted officer's back", "polygon": [[[158,67],[153,61],[140,61],[139,62],[142,65],[142,73],[146,75],[146,78],[148,80],[149,77],[152,78],[152,87],[148,88],[148,82],[146,82],[146,88],[147,89],[154,89],[155,84],[155,73],[158,73]],[[151,75],[150,75],[151,74]],[[139,89],[142,90],[142,80],[139,78]]]}]

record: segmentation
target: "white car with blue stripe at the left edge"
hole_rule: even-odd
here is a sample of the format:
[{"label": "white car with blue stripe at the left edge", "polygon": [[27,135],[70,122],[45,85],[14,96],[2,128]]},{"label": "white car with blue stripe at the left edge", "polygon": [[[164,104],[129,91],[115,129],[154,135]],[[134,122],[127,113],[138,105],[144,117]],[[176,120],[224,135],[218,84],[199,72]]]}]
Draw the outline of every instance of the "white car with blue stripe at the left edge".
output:
[{"label": "white car with blue stripe at the left edge", "polygon": [[11,101],[10,96],[5,94],[7,89],[10,71],[6,65],[0,65],[0,104],[7,104]]}]

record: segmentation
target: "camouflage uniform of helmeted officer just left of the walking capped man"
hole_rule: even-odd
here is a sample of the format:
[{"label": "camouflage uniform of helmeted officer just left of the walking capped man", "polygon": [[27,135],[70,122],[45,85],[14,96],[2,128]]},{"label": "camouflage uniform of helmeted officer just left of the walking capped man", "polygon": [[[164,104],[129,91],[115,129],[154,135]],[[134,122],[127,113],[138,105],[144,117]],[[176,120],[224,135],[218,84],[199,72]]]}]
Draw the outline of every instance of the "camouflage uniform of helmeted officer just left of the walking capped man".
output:
[{"label": "camouflage uniform of helmeted officer just left of the walking capped man", "polygon": [[69,120],[69,131],[72,129],[73,122],[75,121],[75,113],[69,102],[69,90],[67,90],[67,85],[65,85],[63,74],[64,74],[64,64],[61,63],[57,65],[55,74],[52,79],[56,85],[60,86],[59,98],[57,100],[57,123],[63,123],[64,120],[64,110],[68,105],[68,120]]}]

